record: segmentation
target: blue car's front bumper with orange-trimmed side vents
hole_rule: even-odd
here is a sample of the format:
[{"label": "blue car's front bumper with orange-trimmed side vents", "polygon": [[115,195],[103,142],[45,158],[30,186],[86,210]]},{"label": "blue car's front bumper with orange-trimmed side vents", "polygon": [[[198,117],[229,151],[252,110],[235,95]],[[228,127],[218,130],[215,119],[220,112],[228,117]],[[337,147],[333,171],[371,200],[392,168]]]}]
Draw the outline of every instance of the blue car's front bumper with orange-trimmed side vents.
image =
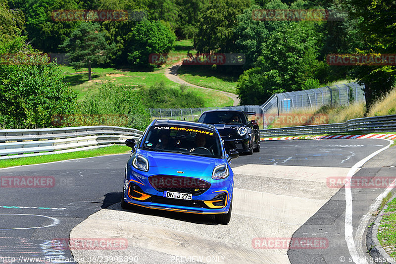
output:
[{"label": "blue car's front bumper with orange-trimmed side vents", "polygon": [[[224,180],[212,180],[211,186],[192,200],[163,197],[148,181],[148,175],[135,170],[129,171],[124,184],[124,201],[150,209],[181,211],[199,214],[227,213],[233,189],[233,175]],[[151,176],[151,175],[150,175]],[[172,190],[177,191],[177,190]]]}]

